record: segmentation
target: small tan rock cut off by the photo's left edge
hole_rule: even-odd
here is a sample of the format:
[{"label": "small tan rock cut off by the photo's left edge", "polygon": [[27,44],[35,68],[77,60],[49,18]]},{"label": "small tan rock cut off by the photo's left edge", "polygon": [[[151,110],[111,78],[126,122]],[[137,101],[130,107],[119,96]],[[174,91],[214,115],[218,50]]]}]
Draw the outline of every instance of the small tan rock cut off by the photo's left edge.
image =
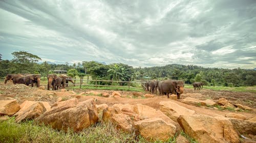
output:
[{"label": "small tan rock cut off by the photo's left edge", "polygon": [[20,109],[17,100],[0,100],[0,115],[11,116]]}]

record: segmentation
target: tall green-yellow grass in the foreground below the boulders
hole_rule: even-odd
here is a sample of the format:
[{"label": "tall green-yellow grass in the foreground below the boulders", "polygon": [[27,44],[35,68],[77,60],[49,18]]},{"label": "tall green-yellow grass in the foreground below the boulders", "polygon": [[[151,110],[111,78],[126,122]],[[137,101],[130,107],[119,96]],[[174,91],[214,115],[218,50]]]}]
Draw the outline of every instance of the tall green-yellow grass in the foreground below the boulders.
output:
[{"label": "tall green-yellow grass in the foreground below the boulders", "polygon": [[[184,132],[181,135],[195,142]],[[169,138],[166,142],[176,142],[176,136]],[[151,142],[145,140],[135,132],[127,133],[116,129],[111,123],[98,123],[81,132],[57,131],[49,126],[39,126],[34,121],[25,121],[17,124],[12,117],[6,121],[0,122],[0,142]],[[163,141],[153,141],[163,143]]]}]

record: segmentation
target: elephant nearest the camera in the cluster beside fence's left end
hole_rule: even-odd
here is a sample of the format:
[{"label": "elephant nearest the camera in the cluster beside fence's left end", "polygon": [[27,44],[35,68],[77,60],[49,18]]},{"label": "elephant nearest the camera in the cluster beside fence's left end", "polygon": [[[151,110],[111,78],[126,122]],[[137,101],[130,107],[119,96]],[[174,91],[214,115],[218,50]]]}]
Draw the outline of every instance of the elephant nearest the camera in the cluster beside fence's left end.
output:
[{"label": "elephant nearest the camera in the cluster beside fence's left end", "polygon": [[60,78],[55,74],[49,74],[47,78],[48,78],[47,90],[50,90],[50,88],[52,88],[52,90],[58,90],[61,84],[63,86],[65,85],[65,83],[62,82],[62,78]]}]

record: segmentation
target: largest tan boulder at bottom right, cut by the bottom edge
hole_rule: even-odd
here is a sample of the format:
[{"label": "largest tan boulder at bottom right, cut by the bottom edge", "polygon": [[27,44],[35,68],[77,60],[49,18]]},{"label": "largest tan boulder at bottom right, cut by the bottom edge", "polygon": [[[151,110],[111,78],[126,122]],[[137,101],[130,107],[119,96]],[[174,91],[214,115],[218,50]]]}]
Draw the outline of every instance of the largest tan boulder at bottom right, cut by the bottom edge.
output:
[{"label": "largest tan boulder at bottom right, cut by the bottom edge", "polygon": [[180,116],[178,122],[186,134],[199,142],[239,142],[239,136],[227,118],[189,115]]}]

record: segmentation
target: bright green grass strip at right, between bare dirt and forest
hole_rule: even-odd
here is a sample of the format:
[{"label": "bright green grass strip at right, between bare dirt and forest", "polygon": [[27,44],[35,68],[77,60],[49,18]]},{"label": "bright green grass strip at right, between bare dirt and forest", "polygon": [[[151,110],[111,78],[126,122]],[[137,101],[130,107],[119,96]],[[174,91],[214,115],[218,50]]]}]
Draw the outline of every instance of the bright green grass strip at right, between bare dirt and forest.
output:
[{"label": "bright green grass strip at right, between bare dirt and forest", "polygon": [[[185,88],[188,89],[194,89],[193,85],[186,84]],[[256,86],[251,86],[251,87],[221,87],[221,86],[207,86],[204,85],[203,89],[209,89],[209,90],[214,90],[214,91],[232,91],[232,92],[251,92],[251,93],[256,93]]]}]

